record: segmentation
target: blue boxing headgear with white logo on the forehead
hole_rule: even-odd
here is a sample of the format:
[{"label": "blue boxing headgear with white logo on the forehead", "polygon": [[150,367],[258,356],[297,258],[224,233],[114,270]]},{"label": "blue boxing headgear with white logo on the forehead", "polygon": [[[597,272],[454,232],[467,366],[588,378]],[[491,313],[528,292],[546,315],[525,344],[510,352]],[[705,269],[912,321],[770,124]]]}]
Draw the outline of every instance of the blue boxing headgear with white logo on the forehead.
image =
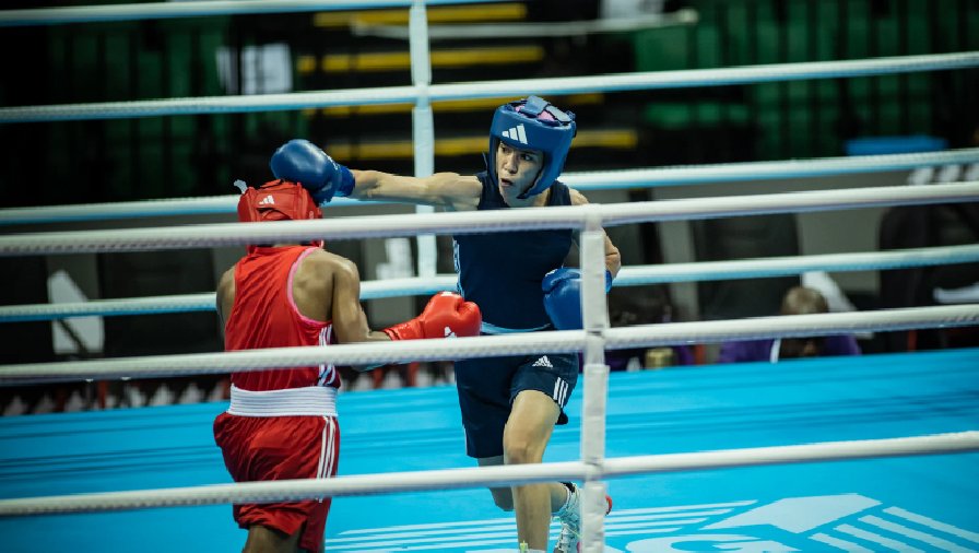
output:
[{"label": "blue boxing headgear with white logo on the forehead", "polygon": [[546,190],[564,168],[564,161],[571,148],[577,126],[575,114],[562,111],[546,99],[528,96],[496,108],[490,126],[490,154],[487,170],[494,183],[496,175],[496,149],[500,141],[518,150],[539,150],[544,154],[543,167],[529,189],[518,196],[521,200]]}]

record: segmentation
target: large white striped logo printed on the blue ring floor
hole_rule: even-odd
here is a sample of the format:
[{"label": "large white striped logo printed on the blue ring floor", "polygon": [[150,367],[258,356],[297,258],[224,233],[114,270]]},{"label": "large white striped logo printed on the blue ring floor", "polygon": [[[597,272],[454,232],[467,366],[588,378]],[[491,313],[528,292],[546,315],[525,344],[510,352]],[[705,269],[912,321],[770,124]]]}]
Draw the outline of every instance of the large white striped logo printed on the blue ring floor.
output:
[{"label": "large white striped logo printed on the blue ring floor", "polygon": [[[979,550],[979,532],[859,494],[620,509],[604,530],[606,553]],[[557,531],[555,522],[552,541]],[[327,551],[510,553],[515,537],[507,517],[351,530],[328,539]]]}]

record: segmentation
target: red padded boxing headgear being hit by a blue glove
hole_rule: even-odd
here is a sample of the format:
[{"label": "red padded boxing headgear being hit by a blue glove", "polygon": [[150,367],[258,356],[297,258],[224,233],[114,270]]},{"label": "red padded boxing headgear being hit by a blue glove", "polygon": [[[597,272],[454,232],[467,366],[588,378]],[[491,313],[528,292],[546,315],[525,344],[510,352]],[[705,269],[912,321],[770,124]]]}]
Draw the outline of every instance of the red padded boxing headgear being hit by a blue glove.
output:
[{"label": "red padded boxing headgear being hit by a blue glove", "polygon": [[[259,188],[248,187],[238,199],[238,221],[302,221],[319,219],[322,212],[302,185],[287,180],[272,180]],[[314,245],[322,247],[322,240]],[[251,246],[249,246],[249,251]]]}]

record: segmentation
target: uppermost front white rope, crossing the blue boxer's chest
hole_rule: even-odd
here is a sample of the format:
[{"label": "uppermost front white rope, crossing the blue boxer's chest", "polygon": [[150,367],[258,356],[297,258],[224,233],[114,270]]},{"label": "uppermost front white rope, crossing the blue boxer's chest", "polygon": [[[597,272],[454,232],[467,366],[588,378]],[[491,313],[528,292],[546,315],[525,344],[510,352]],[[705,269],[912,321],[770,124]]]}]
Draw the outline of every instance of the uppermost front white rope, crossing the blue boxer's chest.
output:
[{"label": "uppermost front white rope, crossing the blue boxer's chest", "polygon": [[927,187],[817,190],[503,211],[184,225],[130,228],[125,233],[117,230],[28,233],[0,237],[0,256],[187,249],[205,246],[294,243],[320,238],[415,236],[439,233],[474,234],[528,228],[580,228],[588,216],[600,216],[602,224],[614,226],[649,221],[715,219],[977,200],[979,200],[979,181],[929,185]]}]

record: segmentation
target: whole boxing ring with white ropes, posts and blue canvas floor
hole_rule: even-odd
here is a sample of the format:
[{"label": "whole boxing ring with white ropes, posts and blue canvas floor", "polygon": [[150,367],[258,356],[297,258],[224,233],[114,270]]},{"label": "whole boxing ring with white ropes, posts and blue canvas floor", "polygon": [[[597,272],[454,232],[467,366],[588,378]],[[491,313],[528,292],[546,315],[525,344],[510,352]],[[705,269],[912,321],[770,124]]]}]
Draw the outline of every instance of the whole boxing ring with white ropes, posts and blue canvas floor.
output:
[{"label": "whole boxing ring with white ropes, posts and blue canvas floor", "polygon": [[[196,10],[217,13],[228,3],[194,4],[192,9],[181,3],[158,4],[150,12],[155,16],[199,15]],[[274,2],[250,4],[256,10],[266,7],[288,11],[322,9],[323,2],[297,1],[280,3],[279,8]],[[423,2],[384,2],[391,4],[411,4],[413,35],[418,28],[424,32]],[[126,7],[113,13],[117,17],[135,16],[127,13]],[[54,19],[44,20],[45,15]],[[32,17],[42,17],[52,24],[108,16],[97,10],[24,10],[7,12],[0,23],[37,24],[38,20]],[[415,61],[424,59],[424,40],[413,39],[412,52]],[[408,87],[0,108],[0,122],[410,101],[416,105],[417,170],[426,174],[430,173],[433,129],[425,121],[430,121],[428,103],[435,99],[519,95],[521,90],[547,95],[976,66],[979,52],[964,52],[669,74],[496,81],[487,86],[430,85],[424,70],[427,66],[422,62],[414,72],[415,86]],[[568,175],[563,180],[589,190],[976,162],[979,150],[971,149],[933,155],[766,164],[767,173],[759,170],[765,168],[759,164],[735,164]],[[0,210],[0,220],[9,224],[14,220],[122,219],[154,210],[217,213],[232,211],[233,200]],[[11,551],[228,551],[245,540],[245,532],[231,519],[231,503],[333,495],[337,498],[327,523],[327,551],[512,551],[512,515],[498,511],[483,487],[574,479],[585,482],[586,551],[979,551],[979,349],[615,374],[610,374],[603,363],[605,350],[637,346],[976,326],[977,305],[610,328],[600,231],[602,226],[638,222],[977,200],[979,183],[956,183],[521,209],[512,213],[422,210],[409,215],[343,221],[328,216],[321,221],[185,225],[126,233],[5,234],[0,236],[0,256],[16,257],[234,246],[256,240],[432,237],[451,232],[574,227],[582,231],[586,329],[5,365],[0,367],[2,386],[539,351],[582,352],[586,363],[581,391],[574,395],[567,408],[571,423],[555,430],[545,462],[540,466],[473,467],[463,455],[455,390],[448,386],[341,395],[343,451],[339,476],[326,481],[231,483],[211,435],[211,423],[226,408],[224,402],[3,417],[0,530],[5,537],[4,546]],[[446,284],[451,286],[452,278],[436,275],[426,255],[422,249],[420,278],[365,283],[363,297],[427,294]],[[811,270],[886,270],[977,260],[979,247],[966,245],[627,267],[615,284],[764,278]],[[213,309],[213,297],[203,293],[4,306],[0,308],[0,321]],[[605,489],[615,502],[609,516],[603,515],[602,506]]]}]

